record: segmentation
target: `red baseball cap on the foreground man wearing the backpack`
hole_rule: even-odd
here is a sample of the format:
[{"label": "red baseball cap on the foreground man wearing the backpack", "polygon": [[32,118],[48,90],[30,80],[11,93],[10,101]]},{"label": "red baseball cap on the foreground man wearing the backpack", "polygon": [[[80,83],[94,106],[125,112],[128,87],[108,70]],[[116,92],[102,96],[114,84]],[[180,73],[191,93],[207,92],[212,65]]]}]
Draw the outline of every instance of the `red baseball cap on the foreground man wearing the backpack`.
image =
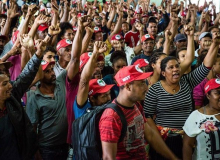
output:
[{"label": "red baseball cap on the foreground man wearing the backpack", "polygon": [[153,72],[144,73],[138,65],[126,66],[120,69],[115,75],[118,86],[123,86],[132,81],[147,79]]}]

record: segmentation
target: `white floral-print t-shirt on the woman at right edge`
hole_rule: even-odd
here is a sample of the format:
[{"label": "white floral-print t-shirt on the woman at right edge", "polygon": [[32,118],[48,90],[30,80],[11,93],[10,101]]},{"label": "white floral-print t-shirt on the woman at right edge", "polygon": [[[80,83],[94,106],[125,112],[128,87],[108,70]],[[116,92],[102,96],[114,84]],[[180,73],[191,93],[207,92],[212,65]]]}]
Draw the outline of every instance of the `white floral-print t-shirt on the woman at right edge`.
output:
[{"label": "white floral-print t-shirt on the woman at right edge", "polygon": [[193,111],[186,120],[183,130],[189,137],[196,137],[196,148],[193,160],[211,160],[210,127],[217,129],[215,123],[220,122],[214,115],[205,115],[198,110]]}]

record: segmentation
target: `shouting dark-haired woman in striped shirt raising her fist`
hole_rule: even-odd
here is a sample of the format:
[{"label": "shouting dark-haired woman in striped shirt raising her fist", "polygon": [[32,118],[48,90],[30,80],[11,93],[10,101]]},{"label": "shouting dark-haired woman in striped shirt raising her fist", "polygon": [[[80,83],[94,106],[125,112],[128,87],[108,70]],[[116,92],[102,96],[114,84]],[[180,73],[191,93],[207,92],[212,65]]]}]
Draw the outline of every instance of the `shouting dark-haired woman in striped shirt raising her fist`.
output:
[{"label": "shouting dark-haired woman in striped shirt raising her fist", "polygon": [[[182,75],[185,71],[181,70],[175,57],[164,58],[161,61],[160,81],[151,86],[146,95],[145,115],[156,115],[155,123],[158,128],[162,131],[168,130],[164,139],[179,158],[182,157],[182,137],[179,133],[182,133],[184,122],[192,111],[192,89],[209,73],[218,53],[219,42],[219,34],[214,34],[213,43],[203,64],[184,76]],[[158,156],[153,159],[163,158]]]}]

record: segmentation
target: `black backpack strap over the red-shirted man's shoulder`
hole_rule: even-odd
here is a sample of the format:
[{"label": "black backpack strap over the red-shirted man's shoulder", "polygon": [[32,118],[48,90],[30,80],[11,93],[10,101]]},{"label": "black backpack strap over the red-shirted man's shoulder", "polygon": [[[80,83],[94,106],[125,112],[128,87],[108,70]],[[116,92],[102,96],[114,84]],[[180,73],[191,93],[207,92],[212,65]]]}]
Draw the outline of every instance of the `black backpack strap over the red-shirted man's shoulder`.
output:
[{"label": "black backpack strap over the red-shirted man's shoulder", "polygon": [[121,136],[119,137],[119,140],[118,140],[119,142],[121,142],[124,139],[126,132],[127,132],[127,121],[126,121],[125,115],[124,115],[123,111],[121,110],[121,108],[118,107],[118,105],[115,103],[108,104],[106,106],[106,108],[113,109],[121,119],[122,130],[121,130]]}]

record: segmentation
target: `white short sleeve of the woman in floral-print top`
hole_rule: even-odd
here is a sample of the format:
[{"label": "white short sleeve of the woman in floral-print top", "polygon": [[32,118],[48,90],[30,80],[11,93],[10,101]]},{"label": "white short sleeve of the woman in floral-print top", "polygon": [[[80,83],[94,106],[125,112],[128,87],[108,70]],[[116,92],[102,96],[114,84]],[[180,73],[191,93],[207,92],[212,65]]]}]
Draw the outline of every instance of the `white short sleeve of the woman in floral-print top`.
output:
[{"label": "white short sleeve of the woman in floral-print top", "polygon": [[189,117],[187,118],[183,130],[189,137],[196,137],[198,134],[202,132],[201,129],[199,129],[199,111],[192,112]]}]

